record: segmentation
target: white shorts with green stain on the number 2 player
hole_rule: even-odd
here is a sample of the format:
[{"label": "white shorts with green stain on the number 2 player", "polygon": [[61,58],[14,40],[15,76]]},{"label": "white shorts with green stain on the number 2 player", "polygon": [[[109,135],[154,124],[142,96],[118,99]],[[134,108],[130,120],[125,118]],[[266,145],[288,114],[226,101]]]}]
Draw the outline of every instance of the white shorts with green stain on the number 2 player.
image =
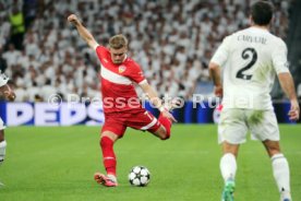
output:
[{"label": "white shorts with green stain on the number 2 player", "polygon": [[279,141],[279,128],[273,110],[222,109],[218,125],[218,143],[241,144],[250,130],[252,140]]}]

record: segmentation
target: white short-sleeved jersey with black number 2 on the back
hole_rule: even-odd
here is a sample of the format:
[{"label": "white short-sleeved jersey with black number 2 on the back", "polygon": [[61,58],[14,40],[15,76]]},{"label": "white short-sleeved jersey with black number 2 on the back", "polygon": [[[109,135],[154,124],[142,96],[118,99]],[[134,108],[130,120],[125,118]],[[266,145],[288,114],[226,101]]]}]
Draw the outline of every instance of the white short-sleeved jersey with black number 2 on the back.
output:
[{"label": "white short-sleeved jersey with black number 2 on the back", "polygon": [[222,67],[224,108],[273,109],[275,75],[289,72],[284,40],[255,26],[227,36],[212,62]]}]

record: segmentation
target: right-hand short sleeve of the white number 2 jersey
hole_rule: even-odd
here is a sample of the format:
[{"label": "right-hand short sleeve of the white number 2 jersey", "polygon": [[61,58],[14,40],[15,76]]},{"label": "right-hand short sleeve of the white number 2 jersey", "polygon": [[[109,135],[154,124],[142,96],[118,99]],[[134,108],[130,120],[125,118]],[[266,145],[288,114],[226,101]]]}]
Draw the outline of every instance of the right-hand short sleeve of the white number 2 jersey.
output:
[{"label": "right-hand short sleeve of the white number 2 jersey", "polygon": [[279,39],[279,42],[277,43],[277,47],[274,48],[274,51],[272,54],[273,67],[277,74],[289,72],[287,55],[287,45],[284,40]]}]

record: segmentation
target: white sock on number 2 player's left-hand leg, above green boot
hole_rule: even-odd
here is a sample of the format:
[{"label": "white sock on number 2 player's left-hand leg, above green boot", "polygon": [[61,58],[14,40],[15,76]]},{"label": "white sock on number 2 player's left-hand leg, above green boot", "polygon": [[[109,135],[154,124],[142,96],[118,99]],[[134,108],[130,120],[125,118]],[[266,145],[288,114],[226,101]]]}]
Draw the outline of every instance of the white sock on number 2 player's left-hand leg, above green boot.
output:
[{"label": "white sock on number 2 player's left-hand leg, above green boot", "polygon": [[220,158],[219,167],[220,167],[221,176],[225,180],[225,184],[229,179],[234,180],[236,173],[237,173],[237,159],[233,154],[230,154],[230,153],[224,154],[224,156]]}]

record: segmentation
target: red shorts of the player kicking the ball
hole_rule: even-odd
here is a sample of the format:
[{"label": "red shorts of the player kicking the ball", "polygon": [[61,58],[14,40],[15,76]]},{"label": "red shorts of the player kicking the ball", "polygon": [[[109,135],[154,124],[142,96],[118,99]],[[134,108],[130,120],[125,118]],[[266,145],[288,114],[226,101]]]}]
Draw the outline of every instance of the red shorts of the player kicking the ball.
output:
[{"label": "red shorts of the player kicking the ball", "polygon": [[103,126],[101,132],[111,131],[119,138],[122,138],[127,127],[156,132],[160,127],[160,122],[149,111],[143,108],[130,113],[105,114],[105,125]]}]

